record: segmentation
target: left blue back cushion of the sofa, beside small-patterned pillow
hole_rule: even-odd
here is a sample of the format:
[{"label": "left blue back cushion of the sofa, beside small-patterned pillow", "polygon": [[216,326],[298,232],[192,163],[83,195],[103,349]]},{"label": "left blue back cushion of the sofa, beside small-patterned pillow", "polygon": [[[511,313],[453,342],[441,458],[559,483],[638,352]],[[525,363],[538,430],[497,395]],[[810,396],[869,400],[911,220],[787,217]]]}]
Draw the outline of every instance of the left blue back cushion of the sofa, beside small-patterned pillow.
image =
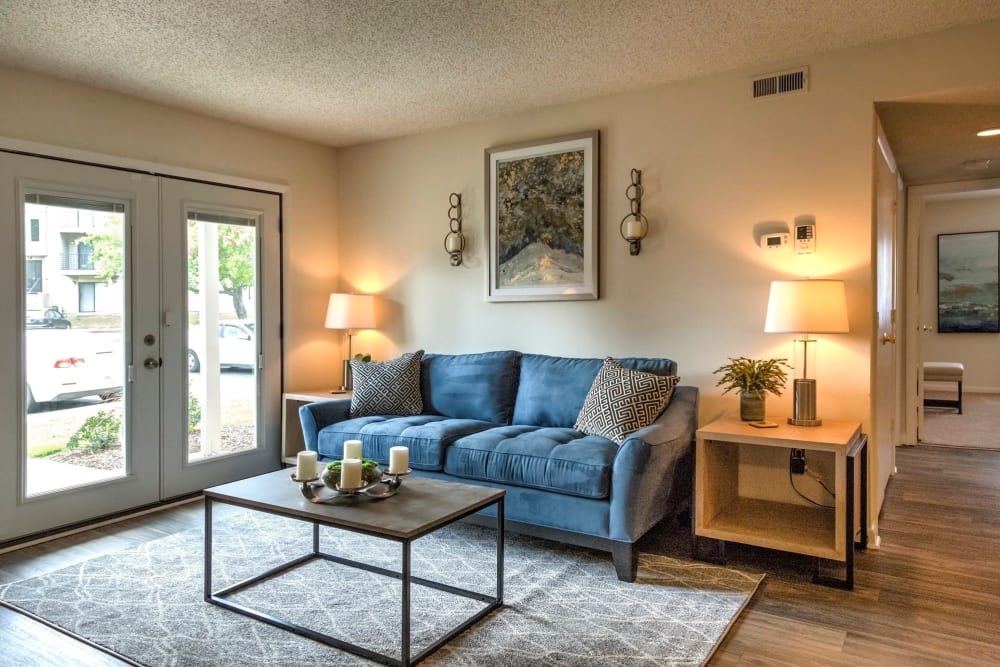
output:
[{"label": "left blue back cushion of the sofa, beside small-patterned pillow", "polygon": [[520,357],[512,350],[424,355],[420,373],[424,412],[509,424]]}]

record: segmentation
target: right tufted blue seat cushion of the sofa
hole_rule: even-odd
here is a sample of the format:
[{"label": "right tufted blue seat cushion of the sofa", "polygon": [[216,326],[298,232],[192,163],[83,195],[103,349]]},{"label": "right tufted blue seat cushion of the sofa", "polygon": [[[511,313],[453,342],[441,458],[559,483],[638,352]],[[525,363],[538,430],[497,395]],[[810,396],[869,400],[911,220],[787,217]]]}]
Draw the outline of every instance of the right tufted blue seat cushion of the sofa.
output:
[{"label": "right tufted blue seat cushion of the sofa", "polygon": [[607,498],[618,445],[570,428],[500,426],[460,438],[445,454],[455,477]]}]

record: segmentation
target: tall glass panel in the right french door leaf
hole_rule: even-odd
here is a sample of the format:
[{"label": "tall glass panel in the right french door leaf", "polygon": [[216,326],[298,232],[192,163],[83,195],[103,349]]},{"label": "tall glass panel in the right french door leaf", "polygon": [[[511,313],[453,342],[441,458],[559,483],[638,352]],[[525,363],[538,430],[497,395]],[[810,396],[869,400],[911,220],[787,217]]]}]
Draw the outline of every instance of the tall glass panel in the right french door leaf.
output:
[{"label": "tall glass panel in the right french door leaf", "polygon": [[257,448],[257,230],[187,215],[188,461]]}]

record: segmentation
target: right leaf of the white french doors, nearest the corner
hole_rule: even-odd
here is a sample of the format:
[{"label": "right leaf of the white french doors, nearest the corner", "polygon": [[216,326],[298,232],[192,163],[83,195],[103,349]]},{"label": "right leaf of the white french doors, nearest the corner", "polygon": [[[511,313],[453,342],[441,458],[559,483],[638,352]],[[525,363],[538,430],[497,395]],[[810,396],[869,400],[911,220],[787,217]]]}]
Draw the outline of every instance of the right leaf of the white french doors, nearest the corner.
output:
[{"label": "right leaf of the white french doors, nearest the corner", "polygon": [[[163,494],[274,470],[281,458],[280,201],[164,179]],[[267,278],[274,278],[268,280]]]}]

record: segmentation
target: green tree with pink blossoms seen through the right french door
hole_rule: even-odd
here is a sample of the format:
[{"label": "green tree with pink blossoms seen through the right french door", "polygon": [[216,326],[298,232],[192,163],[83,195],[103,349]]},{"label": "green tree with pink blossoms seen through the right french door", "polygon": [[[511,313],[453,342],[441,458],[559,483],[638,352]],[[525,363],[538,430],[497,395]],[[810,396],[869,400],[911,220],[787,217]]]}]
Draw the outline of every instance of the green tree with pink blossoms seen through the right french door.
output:
[{"label": "green tree with pink blossoms seen through the right french door", "polygon": [[[188,289],[196,294],[199,278],[197,224],[193,220],[188,221]],[[219,238],[219,292],[232,297],[236,316],[246,319],[243,295],[253,287],[256,278],[254,228],[219,224],[216,231]]]}]

